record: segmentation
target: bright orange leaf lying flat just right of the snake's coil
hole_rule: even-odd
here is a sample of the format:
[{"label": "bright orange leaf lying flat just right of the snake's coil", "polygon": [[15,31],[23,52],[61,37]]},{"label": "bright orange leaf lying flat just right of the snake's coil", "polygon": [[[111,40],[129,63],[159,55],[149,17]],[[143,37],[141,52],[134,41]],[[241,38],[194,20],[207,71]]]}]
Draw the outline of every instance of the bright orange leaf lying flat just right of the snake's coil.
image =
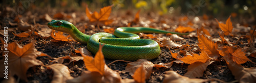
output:
[{"label": "bright orange leaf lying flat just right of the snake's coil", "polygon": [[183,58],[178,58],[178,60],[183,61],[186,64],[193,64],[195,62],[202,62],[205,63],[207,61],[209,61],[211,58],[207,55],[207,53],[203,50],[199,54],[193,53],[192,56],[186,56]]}]

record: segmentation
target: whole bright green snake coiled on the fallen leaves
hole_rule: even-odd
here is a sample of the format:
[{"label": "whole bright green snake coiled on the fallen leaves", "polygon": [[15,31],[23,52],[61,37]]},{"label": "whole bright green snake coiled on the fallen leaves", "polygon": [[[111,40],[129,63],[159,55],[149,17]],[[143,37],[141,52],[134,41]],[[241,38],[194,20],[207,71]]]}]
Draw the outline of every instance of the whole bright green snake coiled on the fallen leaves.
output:
[{"label": "whole bright green snake coiled on the fallen leaves", "polygon": [[149,27],[118,27],[114,35],[109,33],[96,33],[92,36],[83,34],[75,25],[66,20],[52,20],[48,27],[52,30],[68,33],[82,44],[87,44],[89,51],[96,54],[99,44],[106,59],[136,61],[138,59],[152,60],[159,56],[159,44],[151,39],[140,39],[138,33],[171,33],[187,35],[188,33],[175,33],[157,30]]}]

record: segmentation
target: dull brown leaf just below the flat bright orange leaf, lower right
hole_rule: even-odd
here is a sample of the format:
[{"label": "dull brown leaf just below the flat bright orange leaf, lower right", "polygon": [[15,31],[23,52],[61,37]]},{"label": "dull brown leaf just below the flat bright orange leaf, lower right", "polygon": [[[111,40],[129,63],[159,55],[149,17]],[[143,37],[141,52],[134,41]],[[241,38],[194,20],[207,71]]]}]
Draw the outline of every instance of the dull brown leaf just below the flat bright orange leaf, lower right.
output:
[{"label": "dull brown leaf just below the flat bright orange leaf, lower right", "polygon": [[211,62],[207,61],[205,63],[196,62],[196,63],[190,64],[188,65],[187,72],[184,74],[184,76],[189,78],[202,77],[207,66],[213,62],[214,61],[211,61]]}]

